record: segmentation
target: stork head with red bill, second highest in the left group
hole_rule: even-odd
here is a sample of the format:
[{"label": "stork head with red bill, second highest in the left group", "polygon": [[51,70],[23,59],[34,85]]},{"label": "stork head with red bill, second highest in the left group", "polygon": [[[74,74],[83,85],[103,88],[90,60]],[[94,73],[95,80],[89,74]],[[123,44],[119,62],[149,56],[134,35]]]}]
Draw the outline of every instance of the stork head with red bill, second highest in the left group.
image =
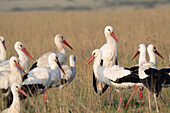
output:
[{"label": "stork head with red bill, second highest in the left group", "polygon": [[32,60],[34,60],[33,57],[29,54],[29,52],[25,49],[24,44],[22,42],[17,41],[14,45],[14,48],[15,48],[15,50],[23,51],[28,57],[30,57]]}]

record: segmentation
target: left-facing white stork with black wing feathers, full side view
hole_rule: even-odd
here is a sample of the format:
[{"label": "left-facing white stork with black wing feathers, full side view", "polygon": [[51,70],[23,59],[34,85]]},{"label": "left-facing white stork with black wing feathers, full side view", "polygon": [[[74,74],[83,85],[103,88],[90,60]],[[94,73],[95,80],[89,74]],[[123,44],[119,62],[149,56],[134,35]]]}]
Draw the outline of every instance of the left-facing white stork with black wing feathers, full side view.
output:
[{"label": "left-facing white stork with black wing feathers, full side view", "polygon": [[[86,64],[86,66],[95,58],[94,64],[93,64],[93,70],[95,77],[100,81],[103,82],[109,86],[113,86],[116,89],[129,89],[135,88],[137,89],[138,86],[143,86],[143,84],[140,82],[138,74],[135,72],[124,69],[123,67],[119,65],[113,65],[110,67],[103,67],[100,65],[101,58],[102,58],[102,52],[99,49],[96,49],[92,52],[92,57]],[[119,101],[119,107],[122,103],[122,99],[120,96],[120,91],[118,91],[120,101]]]}]

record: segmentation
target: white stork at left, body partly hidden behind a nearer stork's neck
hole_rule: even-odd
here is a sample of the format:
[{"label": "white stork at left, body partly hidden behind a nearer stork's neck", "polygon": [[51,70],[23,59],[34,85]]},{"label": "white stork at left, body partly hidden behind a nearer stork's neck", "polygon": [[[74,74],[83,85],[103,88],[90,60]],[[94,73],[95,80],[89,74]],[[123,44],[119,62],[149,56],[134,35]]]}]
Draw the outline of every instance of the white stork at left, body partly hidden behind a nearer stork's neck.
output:
[{"label": "white stork at left, body partly hidden behind a nearer stork's neck", "polygon": [[[27,58],[27,56],[29,56],[32,60],[32,56],[28,53],[28,51],[25,49],[24,44],[20,41],[17,41],[14,45],[14,48],[16,50],[16,52],[18,53],[18,60],[19,60],[19,64],[21,65],[21,67],[24,69],[24,71],[26,72],[29,68],[29,59]],[[26,56],[27,55],[27,56]],[[2,70],[9,70],[9,60],[6,60],[2,63],[0,63],[0,71]]]}]

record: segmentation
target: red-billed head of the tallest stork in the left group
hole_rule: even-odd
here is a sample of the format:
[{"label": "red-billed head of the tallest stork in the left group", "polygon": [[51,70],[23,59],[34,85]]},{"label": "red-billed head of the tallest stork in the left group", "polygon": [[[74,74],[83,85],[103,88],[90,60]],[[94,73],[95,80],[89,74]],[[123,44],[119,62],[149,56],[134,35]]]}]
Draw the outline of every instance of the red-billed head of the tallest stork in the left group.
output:
[{"label": "red-billed head of the tallest stork in the left group", "polygon": [[64,40],[64,37],[61,34],[57,34],[54,38],[54,41],[56,44],[57,42],[62,42],[63,44],[65,44],[66,46],[73,50],[73,48]]}]

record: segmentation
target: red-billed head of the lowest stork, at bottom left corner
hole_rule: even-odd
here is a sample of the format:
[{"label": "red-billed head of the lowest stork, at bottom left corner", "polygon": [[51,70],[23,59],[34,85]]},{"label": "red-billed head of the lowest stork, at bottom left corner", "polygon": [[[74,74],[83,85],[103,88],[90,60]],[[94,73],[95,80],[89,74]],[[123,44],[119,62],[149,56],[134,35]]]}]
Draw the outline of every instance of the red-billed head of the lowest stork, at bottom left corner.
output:
[{"label": "red-billed head of the lowest stork, at bottom left corner", "polygon": [[19,91],[21,94],[27,97],[27,94],[21,89],[21,85],[18,82],[13,82],[11,86],[11,91]]}]

